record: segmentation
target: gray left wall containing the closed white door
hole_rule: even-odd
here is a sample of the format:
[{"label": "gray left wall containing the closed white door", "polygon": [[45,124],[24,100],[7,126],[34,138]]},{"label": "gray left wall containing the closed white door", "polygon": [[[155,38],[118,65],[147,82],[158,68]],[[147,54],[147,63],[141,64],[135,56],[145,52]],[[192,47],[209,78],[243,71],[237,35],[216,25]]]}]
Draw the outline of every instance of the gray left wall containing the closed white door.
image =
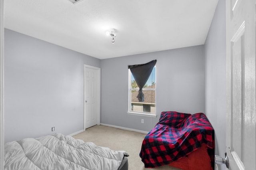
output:
[{"label": "gray left wall containing the closed white door", "polygon": [[84,127],[84,64],[100,60],[4,30],[5,142]]}]

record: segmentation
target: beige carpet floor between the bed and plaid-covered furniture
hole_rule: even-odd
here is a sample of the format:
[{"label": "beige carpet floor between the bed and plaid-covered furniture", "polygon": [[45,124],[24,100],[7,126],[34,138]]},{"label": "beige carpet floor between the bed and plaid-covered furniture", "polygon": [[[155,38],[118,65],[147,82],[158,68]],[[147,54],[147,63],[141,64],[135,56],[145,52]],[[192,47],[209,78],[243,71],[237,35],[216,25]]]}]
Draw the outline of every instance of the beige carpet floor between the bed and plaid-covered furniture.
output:
[{"label": "beige carpet floor between the bed and plaid-covered furniture", "polygon": [[108,147],[112,150],[125,150],[129,154],[129,170],[180,170],[171,166],[144,168],[139,153],[142,140],[145,136],[146,134],[139,132],[96,125],[87,128],[86,131],[76,134],[73,137],[84,140],[85,142],[94,142],[98,146]]}]

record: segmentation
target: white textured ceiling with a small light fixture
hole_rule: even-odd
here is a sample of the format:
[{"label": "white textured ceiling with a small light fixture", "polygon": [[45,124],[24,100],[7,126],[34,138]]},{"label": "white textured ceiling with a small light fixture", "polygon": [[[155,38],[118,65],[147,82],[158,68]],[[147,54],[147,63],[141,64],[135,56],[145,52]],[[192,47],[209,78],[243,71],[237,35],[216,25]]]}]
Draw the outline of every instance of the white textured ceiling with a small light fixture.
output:
[{"label": "white textured ceiling with a small light fixture", "polygon": [[[5,0],[5,28],[106,59],[206,40],[218,0]],[[116,29],[115,43],[106,36]]]}]

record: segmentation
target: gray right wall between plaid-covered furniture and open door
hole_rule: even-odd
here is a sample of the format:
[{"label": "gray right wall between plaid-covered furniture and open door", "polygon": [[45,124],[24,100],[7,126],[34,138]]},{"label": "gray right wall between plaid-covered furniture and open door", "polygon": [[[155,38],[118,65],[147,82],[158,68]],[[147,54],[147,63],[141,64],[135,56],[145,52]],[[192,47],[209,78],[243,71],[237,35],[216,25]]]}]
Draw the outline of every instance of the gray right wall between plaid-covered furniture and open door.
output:
[{"label": "gray right wall between plaid-covered furniture and open door", "polygon": [[[215,154],[226,150],[226,4],[219,0],[205,42],[206,115],[215,130]],[[219,169],[225,169],[221,165]]]}]

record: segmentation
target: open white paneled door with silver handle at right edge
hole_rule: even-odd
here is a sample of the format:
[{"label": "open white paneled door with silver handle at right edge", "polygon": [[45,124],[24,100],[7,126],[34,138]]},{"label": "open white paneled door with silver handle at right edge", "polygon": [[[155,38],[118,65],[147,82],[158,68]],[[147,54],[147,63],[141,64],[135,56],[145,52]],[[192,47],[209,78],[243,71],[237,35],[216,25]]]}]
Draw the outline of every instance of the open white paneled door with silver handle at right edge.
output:
[{"label": "open white paneled door with silver handle at right edge", "polygon": [[226,0],[226,153],[231,170],[256,169],[255,2]]}]

